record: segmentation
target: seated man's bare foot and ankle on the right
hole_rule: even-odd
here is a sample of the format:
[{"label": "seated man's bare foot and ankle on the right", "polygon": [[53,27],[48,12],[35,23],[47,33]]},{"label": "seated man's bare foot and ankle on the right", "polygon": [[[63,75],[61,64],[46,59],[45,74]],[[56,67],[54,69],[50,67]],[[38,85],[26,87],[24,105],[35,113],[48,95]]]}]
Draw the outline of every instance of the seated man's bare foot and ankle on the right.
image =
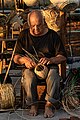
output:
[{"label": "seated man's bare foot and ankle on the right", "polygon": [[45,105],[45,118],[52,118],[54,116],[54,111],[52,110],[52,104],[50,102],[46,103]]}]

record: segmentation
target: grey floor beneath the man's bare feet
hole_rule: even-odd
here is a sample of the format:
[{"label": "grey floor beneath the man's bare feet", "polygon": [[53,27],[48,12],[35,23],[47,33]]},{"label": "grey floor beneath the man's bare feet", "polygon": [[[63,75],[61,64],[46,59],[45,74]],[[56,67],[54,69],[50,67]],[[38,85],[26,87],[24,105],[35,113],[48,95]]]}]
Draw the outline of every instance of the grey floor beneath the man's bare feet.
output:
[{"label": "grey floor beneath the man's bare feet", "polygon": [[[10,112],[1,112],[0,120],[45,120],[43,117],[43,109],[39,110],[39,114],[36,117],[29,116],[29,109],[22,110],[18,109],[12,113]],[[59,120],[61,118],[69,118],[70,115],[67,114],[64,110],[60,109],[55,112],[55,116],[53,118],[46,118],[48,120]]]}]

